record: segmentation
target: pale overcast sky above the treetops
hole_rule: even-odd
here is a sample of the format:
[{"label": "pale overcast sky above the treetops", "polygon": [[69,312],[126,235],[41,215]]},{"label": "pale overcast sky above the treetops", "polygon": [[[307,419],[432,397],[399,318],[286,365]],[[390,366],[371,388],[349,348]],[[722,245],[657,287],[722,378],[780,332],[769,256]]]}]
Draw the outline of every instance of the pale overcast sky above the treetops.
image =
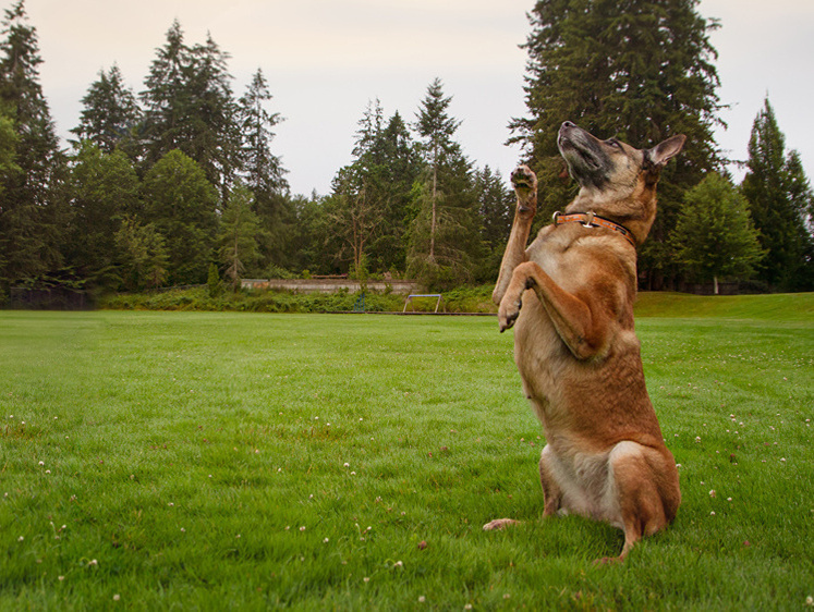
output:
[{"label": "pale overcast sky above the treetops", "polygon": [[[0,0],[8,9],[11,0]],[[386,117],[406,121],[433,78],[452,96],[458,139],[478,167],[505,176],[520,158],[505,145],[525,113],[526,56],[534,0],[26,0],[37,28],[42,88],[58,132],[78,124],[81,99],[98,72],[117,63],[136,91],[178,19],[190,45],[207,32],[231,54],[236,96],[263,69],[278,125],[274,151],[294,193],[328,193],[351,160],[356,122],[378,98]],[[814,1],[702,0],[718,17],[712,35],[728,130],[716,133],[732,158],[746,158],[752,122],[768,94],[787,147],[814,176]],[[563,117],[562,120],[569,118]],[[602,135],[599,135],[602,136]],[[643,146],[646,143],[632,143]],[[740,173],[737,176],[740,178]]]}]

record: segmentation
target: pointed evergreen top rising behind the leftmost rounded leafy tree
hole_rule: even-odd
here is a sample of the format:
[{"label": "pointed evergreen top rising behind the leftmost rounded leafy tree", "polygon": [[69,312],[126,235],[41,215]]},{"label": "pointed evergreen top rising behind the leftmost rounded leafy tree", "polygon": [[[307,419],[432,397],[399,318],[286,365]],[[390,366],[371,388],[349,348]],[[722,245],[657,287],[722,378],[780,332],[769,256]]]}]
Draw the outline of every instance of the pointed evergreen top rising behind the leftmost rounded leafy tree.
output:
[{"label": "pointed evergreen top rising behind the leftmost rounded leafy tree", "polygon": [[82,98],[84,110],[80,125],[71,130],[83,140],[87,139],[104,152],[111,154],[117,147],[134,155],[133,136],[142,111],[133,90],[125,87],[118,65],[108,72],[99,71],[95,81]]}]

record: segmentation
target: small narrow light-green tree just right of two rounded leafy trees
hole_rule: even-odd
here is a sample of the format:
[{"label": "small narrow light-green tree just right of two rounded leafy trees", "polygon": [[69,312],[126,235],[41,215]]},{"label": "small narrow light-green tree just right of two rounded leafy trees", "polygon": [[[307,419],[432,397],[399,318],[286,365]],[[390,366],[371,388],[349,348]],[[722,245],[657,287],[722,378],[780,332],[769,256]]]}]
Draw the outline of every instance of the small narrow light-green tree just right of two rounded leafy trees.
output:
[{"label": "small narrow light-green tree just right of two rounded leafy trees", "polygon": [[252,210],[253,199],[254,195],[245,185],[236,185],[220,220],[218,257],[226,266],[226,276],[235,291],[240,289],[246,266],[252,266],[258,259],[260,220]]}]

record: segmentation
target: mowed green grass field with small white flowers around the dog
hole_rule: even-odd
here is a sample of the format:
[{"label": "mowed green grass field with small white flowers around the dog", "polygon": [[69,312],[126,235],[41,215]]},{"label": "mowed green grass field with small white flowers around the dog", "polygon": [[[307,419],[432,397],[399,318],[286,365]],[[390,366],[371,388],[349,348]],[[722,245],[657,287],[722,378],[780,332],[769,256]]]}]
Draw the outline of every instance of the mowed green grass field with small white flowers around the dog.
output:
[{"label": "mowed green grass field with small white flowers around the dog", "polygon": [[0,313],[0,609],[810,609],[800,299],[637,319],[683,503],[608,566],[493,317]]}]

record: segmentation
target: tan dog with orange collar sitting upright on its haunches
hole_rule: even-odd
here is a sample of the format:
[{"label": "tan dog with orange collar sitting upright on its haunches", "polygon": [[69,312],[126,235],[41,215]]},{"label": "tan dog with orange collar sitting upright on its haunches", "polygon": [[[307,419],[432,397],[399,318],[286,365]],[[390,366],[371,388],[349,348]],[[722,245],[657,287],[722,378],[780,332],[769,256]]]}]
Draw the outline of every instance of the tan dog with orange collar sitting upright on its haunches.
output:
[{"label": "tan dog with orange collar sitting upright on its haunches", "polygon": [[525,166],[511,176],[517,210],[493,299],[500,331],[514,327],[514,360],[545,433],[543,517],[574,513],[622,529],[621,554],[603,562],[623,561],[681,503],[645,388],[633,303],[636,246],[656,217],[661,169],[684,140],[636,149],[564,122],[557,144],[580,189],[527,248],[537,179]]}]

